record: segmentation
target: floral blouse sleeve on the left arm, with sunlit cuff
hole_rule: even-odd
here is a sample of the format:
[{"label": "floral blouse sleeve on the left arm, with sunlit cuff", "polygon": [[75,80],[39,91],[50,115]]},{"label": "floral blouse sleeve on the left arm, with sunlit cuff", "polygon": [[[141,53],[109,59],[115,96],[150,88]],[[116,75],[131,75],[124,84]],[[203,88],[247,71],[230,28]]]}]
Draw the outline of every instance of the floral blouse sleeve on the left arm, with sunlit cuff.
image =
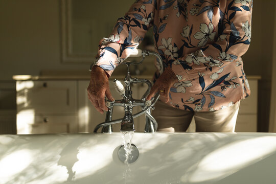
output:
[{"label": "floral blouse sleeve on the left arm, with sunlit cuff", "polygon": [[111,76],[116,66],[143,40],[152,26],[154,11],[152,0],[136,1],[125,16],[118,19],[109,38],[100,40],[96,65]]}]

